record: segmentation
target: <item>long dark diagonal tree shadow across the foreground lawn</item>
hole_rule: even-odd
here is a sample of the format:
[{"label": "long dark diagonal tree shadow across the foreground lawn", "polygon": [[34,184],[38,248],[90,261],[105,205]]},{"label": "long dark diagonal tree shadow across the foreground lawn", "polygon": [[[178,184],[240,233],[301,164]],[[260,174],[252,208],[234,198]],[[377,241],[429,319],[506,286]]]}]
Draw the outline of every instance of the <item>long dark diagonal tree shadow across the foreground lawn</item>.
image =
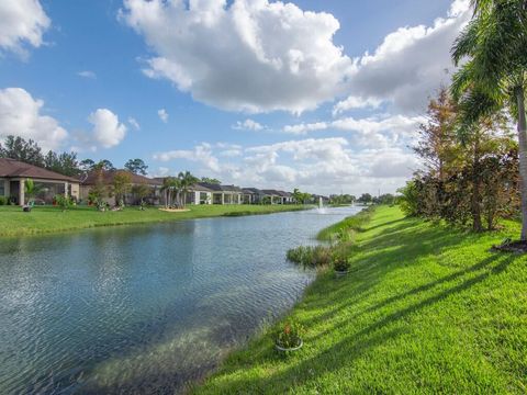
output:
[{"label": "long dark diagonal tree shadow across the foreground lawn", "polygon": [[[515,261],[516,258],[517,257],[514,256],[504,257],[502,255],[494,255],[470,268],[449,274],[428,284],[424,284],[401,295],[395,295],[391,298],[388,298],[379,305],[368,309],[379,309],[391,303],[402,301],[408,296],[419,295],[423,292],[430,291],[437,285],[444,285],[448,282],[464,279],[461,283],[452,284],[452,286],[447,289],[441,287],[433,295],[425,296],[418,301],[408,302],[407,305],[402,306],[401,308],[386,312],[386,314],[382,314],[370,325],[360,328],[358,331],[354,330],[356,329],[354,327],[354,320],[346,319],[345,321],[334,325],[329,330],[326,330],[316,337],[307,336],[306,350],[302,351],[304,354],[299,353],[298,356],[292,356],[289,361],[287,361],[289,365],[285,369],[280,370],[280,365],[283,363],[283,361],[281,361],[280,357],[278,357],[271,350],[270,340],[262,340],[257,345],[256,349],[258,352],[253,356],[254,358],[251,358],[250,361],[245,362],[245,360],[240,359],[239,361],[244,361],[246,364],[240,363],[235,368],[222,371],[222,380],[216,381],[212,388],[215,393],[229,393],[229,391],[232,393],[234,390],[235,393],[273,394],[294,388],[299,385],[310,385],[310,383],[316,381],[317,376],[336,372],[344,365],[350,365],[358,358],[369,353],[375,347],[382,346],[403,332],[406,332],[407,330],[405,330],[405,326],[407,325],[407,318],[410,316],[419,311],[435,306],[437,303],[451,295],[466,292],[472,286],[485,281],[490,275],[503,272],[512,262]],[[485,271],[475,276],[466,278],[480,270]],[[333,313],[337,314],[338,309],[341,308],[345,308],[345,306],[339,306]],[[306,326],[310,326],[310,321],[305,324]],[[392,328],[393,326],[395,327]],[[330,335],[335,335],[337,331],[339,334],[349,335],[345,336],[341,340],[337,341],[333,346],[315,354],[310,354],[310,342],[312,342],[315,338],[323,337],[324,335],[327,335],[327,341],[330,341]],[[322,341],[322,339],[319,341]],[[255,364],[276,365],[277,373],[267,374],[265,376],[244,377],[244,370],[251,368]]]}]

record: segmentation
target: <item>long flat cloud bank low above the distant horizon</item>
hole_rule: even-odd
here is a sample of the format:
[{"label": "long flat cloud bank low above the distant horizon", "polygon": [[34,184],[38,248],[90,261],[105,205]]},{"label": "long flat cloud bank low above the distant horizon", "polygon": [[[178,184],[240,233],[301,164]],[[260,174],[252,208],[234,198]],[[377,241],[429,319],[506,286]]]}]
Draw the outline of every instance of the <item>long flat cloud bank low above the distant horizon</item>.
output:
[{"label": "long flat cloud bank low above the distant horizon", "polygon": [[354,184],[393,192],[418,167],[415,157],[400,147],[355,150],[344,137],[236,146],[233,156],[224,155],[225,148],[222,144],[202,143],[192,149],[157,153],[154,159],[165,163],[183,160],[182,166],[184,161],[195,162],[202,176],[216,177],[225,183],[295,187],[324,193],[340,191],[345,185],[349,191]]}]

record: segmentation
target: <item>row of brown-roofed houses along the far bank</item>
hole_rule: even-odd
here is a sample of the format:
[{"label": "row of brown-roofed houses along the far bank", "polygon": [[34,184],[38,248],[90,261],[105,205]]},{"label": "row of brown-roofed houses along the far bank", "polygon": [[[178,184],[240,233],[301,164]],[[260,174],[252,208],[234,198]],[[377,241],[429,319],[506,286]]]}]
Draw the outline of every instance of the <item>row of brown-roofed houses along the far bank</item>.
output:
[{"label": "row of brown-roofed houses along the far bank", "polygon": [[[15,204],[25,202],[25,180],[32,179],[38,185],[36,200],[40,203],[52,203],[57,194],[71,196],[77,201],[87,202],[90,191],[97,183],[111,188],[117,174],[126,173],[132,185],[147,185],[150,190],[146,201],[149,204],[165,204],[161,192],[164,179],[148,178],[126,170],[106,170],[90,172],[79,179],[63,176],[37,166],[14,159],[0,158],[0,196],[5,196]],[[124,196],[126,204],[138,203],[138,198],[132,192]],[[313,195],[313,202],[321,196]],[[324,200],[327,198],[322,196]],[[291,204],[292,193],[279,190],[260,190],[257,188],[239,188],[236,185],[220,185],[198,182],[184,196],[186,204]],[[109,204],[115,203],[114,196],[105,198]]]}]

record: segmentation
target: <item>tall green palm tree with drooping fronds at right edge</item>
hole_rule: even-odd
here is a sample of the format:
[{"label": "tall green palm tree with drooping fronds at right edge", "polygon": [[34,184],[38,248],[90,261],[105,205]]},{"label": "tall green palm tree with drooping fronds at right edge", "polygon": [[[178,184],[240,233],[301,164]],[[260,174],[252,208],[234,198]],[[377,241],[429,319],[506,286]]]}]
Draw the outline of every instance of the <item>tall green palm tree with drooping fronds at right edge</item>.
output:
[{"label": "tall green palm tree with drooping fronds at right edge", "polygon": [[522,191],[522,240],[527,240],[527,1],[472,0],[471,22],[453,44],[452,93],[459,102],[460,135],[504,108],[517,123]]}]

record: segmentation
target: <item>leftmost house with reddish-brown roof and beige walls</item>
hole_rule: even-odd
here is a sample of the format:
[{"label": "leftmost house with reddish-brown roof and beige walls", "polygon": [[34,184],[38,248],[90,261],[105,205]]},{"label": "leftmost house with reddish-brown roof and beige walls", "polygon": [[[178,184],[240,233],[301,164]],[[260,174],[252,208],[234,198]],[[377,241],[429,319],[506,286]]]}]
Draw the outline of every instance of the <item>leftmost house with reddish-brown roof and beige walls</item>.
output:
[{"label": "leftmost house with reddish-brown roof and beige walls", "polygon": [[38,193],[35,200],[51,204],[57,194],[79,199],[79,180],[14,159],[0,158],[0,196],[19,205],[25,203],[25,180],[32,179]]}]

